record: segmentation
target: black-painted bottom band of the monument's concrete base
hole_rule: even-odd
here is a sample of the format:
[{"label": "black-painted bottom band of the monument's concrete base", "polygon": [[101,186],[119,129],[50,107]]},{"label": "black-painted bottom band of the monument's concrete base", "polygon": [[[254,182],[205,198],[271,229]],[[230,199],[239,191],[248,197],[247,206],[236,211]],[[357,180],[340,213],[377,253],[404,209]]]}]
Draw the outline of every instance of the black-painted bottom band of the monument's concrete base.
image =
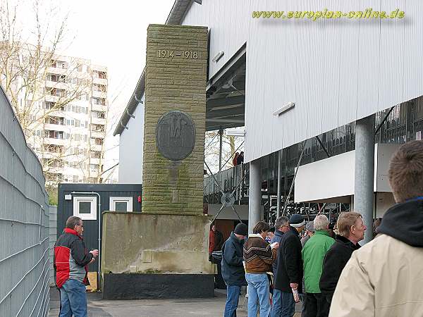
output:
[{"label": "black-painted bottom band of the monument's concrete base", "polygon": [[212,274],[104,274],[104,299],[214,297]]}]

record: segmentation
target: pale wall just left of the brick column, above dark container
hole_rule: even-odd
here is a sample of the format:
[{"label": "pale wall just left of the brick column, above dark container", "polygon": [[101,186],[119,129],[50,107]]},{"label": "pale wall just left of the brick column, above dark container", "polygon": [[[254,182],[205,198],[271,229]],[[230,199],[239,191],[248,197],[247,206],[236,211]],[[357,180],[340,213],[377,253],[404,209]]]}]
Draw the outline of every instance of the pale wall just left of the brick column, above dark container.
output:
[{"label": "pale wall just left of the brick column, above dark container", "polygon": [[[144,101],[144,96],[142,96]],[[142,151],[144,149],[144,106],[138,104],[130,118],[128,130],[119,139],[119,183],[142,184]]]}]

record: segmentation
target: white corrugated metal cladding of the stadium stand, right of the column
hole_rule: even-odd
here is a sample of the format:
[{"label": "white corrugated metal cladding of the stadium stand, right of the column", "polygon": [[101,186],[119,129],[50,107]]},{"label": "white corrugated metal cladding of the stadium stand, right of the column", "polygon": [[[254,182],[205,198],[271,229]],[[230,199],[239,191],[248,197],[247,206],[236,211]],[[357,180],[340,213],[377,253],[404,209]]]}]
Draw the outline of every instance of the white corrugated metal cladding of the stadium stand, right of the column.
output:
[{"label": "white corrugated metal cladding of the stadium stand, right of the column", "polygon": [[[252,17],[253,11],[368,8],[388,14],[398,8],[405,17]],[[208,87],[217,87],[217,95],[207,100],[207,129],[245,124],[245,161],[251,161],[421,96],[422,15],[421,0],[176,0],[168,23],[209,27]],[[242,58],[245,64],[235,67]],[[233,80],[240,83],[228,85]],[[225,95],[225,87],[232,91]],[[289,103],[295,106],[274,115]],[[127,119],[124,113],[115,135]]]}]

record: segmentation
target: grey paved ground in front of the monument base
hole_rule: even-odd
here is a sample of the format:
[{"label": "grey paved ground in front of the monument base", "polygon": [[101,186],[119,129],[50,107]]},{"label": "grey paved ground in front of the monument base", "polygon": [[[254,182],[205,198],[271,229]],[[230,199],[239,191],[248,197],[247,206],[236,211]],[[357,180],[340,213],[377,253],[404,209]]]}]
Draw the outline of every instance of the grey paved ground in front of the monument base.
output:
[{"label": "grey paved ground in front of the monument base", "polygon": [[[59,316],[59,292],[50,291],[49,317]],[[185,317],[185,316],[223,316],[226,290],[215,290],[211,299],[143,299],[137,301],[111,301],[102,299],[100,293],[87,293],[88,316],[90,317]],[[242,309],[244,296],[240,297],[237,316],[246,317]],[[245,303],[246,304],[246,303]],[[298,307],[299,309],[299,307]],[[300,316],[300,314],[295,314]]]}]

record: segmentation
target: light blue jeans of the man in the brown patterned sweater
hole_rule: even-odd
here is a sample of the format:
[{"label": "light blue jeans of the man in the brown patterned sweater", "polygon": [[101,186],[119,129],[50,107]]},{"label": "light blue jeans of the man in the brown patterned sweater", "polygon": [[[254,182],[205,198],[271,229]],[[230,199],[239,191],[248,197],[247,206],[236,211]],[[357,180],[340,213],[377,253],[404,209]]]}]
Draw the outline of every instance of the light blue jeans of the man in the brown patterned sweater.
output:
[{"label": "light blue jeans of the man in the brown patterned sweater", "polygon": [[260,304],[260,317],[270,315],[269,278],[266,273],[245,273],[248,292],[248,317],[257,317],[257,302]]}]

